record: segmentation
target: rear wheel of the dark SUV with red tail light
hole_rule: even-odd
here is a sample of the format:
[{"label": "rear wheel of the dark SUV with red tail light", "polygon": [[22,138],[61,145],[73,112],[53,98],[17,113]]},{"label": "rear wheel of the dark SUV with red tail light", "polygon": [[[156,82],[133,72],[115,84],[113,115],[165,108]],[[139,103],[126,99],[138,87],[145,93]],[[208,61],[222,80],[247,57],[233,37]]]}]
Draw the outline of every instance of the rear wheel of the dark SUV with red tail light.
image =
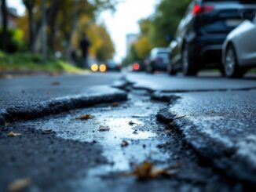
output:
[{"label": "rear wheel of the dark SUV with red tail light", "polygon": [[185,45],[182,50],[182,71],[185,75],[196,75],[198,72],[196,62],[189,56],[188,45]]}]

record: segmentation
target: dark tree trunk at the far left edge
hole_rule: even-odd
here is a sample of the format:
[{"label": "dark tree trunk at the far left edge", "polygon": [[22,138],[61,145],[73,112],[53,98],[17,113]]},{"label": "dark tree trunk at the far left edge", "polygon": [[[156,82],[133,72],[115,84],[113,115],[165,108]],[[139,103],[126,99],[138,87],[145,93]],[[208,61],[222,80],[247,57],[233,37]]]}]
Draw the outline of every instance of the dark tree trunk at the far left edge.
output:
[{"label": "dark tree trunk at the far left edge", "polygon": [[7,27],[8,27],[8,12],[7,12],[7,7],[6,7],[6,1],[2,0],[2,48],[6,50],[7,48],[7,43],[8,43],[8,32],[7,32]]}]

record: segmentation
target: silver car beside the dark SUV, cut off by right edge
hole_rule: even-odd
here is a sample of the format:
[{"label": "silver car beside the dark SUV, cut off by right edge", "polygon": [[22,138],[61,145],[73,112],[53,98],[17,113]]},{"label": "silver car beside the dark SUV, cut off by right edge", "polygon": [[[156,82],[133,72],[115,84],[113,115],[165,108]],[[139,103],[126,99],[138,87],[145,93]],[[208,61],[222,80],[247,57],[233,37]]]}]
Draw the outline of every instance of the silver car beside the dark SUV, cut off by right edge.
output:
[{"label": "silver car beside the dark SUV, cut off by right edge", "polygon": [[229,33],[223,44],[222,63],[229,78],[242,78],[249,69],[256,67],[255,14],[252,20],[244,20]]}]

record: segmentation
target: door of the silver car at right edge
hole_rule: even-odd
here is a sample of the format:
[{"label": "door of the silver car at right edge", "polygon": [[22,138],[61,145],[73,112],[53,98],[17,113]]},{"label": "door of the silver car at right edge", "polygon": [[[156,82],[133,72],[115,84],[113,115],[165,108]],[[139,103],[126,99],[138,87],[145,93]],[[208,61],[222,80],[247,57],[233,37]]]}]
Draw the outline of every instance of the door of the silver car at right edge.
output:
[{"label": "door of the silver car at right edge", "polygon": [[256,16],[247,21],[247,30],[240,34],[240,53],[244,65],[256,63]]}]

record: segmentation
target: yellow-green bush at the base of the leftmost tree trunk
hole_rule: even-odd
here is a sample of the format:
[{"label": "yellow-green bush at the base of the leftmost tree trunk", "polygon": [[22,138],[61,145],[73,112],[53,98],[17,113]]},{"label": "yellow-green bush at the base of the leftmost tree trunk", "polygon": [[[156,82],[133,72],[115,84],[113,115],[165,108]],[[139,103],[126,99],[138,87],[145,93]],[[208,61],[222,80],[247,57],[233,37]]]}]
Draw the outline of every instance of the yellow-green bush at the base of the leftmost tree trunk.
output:
[{"label": "yellow-green bush at the base of the leftmost tree trunk", "polygon": [[[2,29],[0,29],[0,37],[2,37]],[[24,48],[24,42],[22,41],[23,31],[19,29],[9,28],[7,31],[7,45],[4,47],[2,41],[0,42],[0,49],[6,53],[16,53]]]}]

